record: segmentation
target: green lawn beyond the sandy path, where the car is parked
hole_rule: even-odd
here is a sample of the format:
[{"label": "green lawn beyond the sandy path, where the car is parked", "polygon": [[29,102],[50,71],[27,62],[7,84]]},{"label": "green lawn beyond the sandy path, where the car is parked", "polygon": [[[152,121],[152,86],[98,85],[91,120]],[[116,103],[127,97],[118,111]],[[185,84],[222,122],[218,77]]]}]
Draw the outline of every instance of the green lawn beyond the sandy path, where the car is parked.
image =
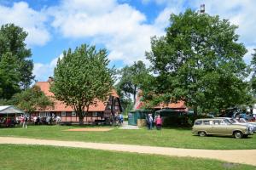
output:
[{"label": "green lawn beyond the sandy path, where the car is parked", "polygon": [[27,129],[21,127],[0,128],[0,136],[214,150],[256,149],[255,134],[247,139],[234,139],[232,137],[199,137],[193,135],[190,129],[185,128],[164,128],[161,131],[148,131],[147,129],[119,130],[117,128],[108,132],[63,131],[68,128],[77,127],[29,126]]}]

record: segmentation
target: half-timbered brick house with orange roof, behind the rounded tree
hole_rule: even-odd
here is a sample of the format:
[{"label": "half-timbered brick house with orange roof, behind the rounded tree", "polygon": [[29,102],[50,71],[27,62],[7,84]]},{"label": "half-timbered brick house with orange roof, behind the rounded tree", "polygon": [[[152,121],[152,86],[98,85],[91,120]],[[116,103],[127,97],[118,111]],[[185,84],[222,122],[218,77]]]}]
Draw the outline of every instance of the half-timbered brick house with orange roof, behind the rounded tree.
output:
[{"label": "half-timbered brick house with orange roof, behind the rounded tree", "polygon": [[[63,102],[54,99],[54,94],[49,91],[50,81],[36,82],[35,85],[38,86],[44,94],[54,102],[54,107],[49,107],[44,111],[37,110],[32,113],[32,117],[59,116],[61,117],[61,122],[79,122],[79,116],[71,106],[67,106]],[[85,108],[85,111],[86,110],[87,109]],[[84,122],[108,120],[112,115],[119,114],[121,112],[122,108],[119,95],[115,90],[113,90],[107,101],[96,99],[96,105],[89,106],[89,112],[84,116]]]}]

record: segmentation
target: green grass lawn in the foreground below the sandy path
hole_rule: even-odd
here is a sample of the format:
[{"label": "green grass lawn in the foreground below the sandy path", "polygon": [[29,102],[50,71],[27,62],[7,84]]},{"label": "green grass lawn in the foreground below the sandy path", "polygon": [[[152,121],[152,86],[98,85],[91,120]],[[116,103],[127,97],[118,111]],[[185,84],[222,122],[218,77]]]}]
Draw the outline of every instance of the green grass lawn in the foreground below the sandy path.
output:
[{"label": "green grass lawn in the foreground below the sandy path", "polygon": [[187,157],[142,155],[103,150],[85,150],[54,146],[0,144],[1,170],[102,170],[102,169],[255,169],[224,161]]}]

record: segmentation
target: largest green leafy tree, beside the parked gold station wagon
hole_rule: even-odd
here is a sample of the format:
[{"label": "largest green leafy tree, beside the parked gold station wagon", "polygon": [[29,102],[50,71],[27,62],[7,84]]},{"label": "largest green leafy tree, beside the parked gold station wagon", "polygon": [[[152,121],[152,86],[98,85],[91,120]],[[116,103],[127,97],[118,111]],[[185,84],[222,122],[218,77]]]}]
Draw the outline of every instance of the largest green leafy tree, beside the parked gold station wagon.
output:
[{"label": "largest green leafy tree, beside the parked gold station wagon", "polygon": [[[237,26],[218,16],[190,9],[172,14],[166,36],[153,37],[146,53],[156,73],[154,94],[182,99],[203,111],[241,105],[247,99],[247,49],[238,42]],[[151,92],[152,93],[152,92]]]}]

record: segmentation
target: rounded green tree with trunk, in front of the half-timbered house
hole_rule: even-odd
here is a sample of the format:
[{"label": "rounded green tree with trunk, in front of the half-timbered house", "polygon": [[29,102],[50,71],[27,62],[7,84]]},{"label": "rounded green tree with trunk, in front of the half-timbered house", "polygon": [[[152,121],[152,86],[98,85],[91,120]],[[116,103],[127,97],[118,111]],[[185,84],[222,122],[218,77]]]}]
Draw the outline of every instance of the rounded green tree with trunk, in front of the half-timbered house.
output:
[{"label": "rounded green tree with trunk, in front of the half-timbered house", "polygon": [[84,123],[84,116],[90,105],[97,105],[97,99],[106,100],[113,89],[113,69],[108,68],[109,60],[105,49],[96,50],[86,44],[69,49],[58,60],[54,82],[50,90],[55,99],[71,105]]}]

